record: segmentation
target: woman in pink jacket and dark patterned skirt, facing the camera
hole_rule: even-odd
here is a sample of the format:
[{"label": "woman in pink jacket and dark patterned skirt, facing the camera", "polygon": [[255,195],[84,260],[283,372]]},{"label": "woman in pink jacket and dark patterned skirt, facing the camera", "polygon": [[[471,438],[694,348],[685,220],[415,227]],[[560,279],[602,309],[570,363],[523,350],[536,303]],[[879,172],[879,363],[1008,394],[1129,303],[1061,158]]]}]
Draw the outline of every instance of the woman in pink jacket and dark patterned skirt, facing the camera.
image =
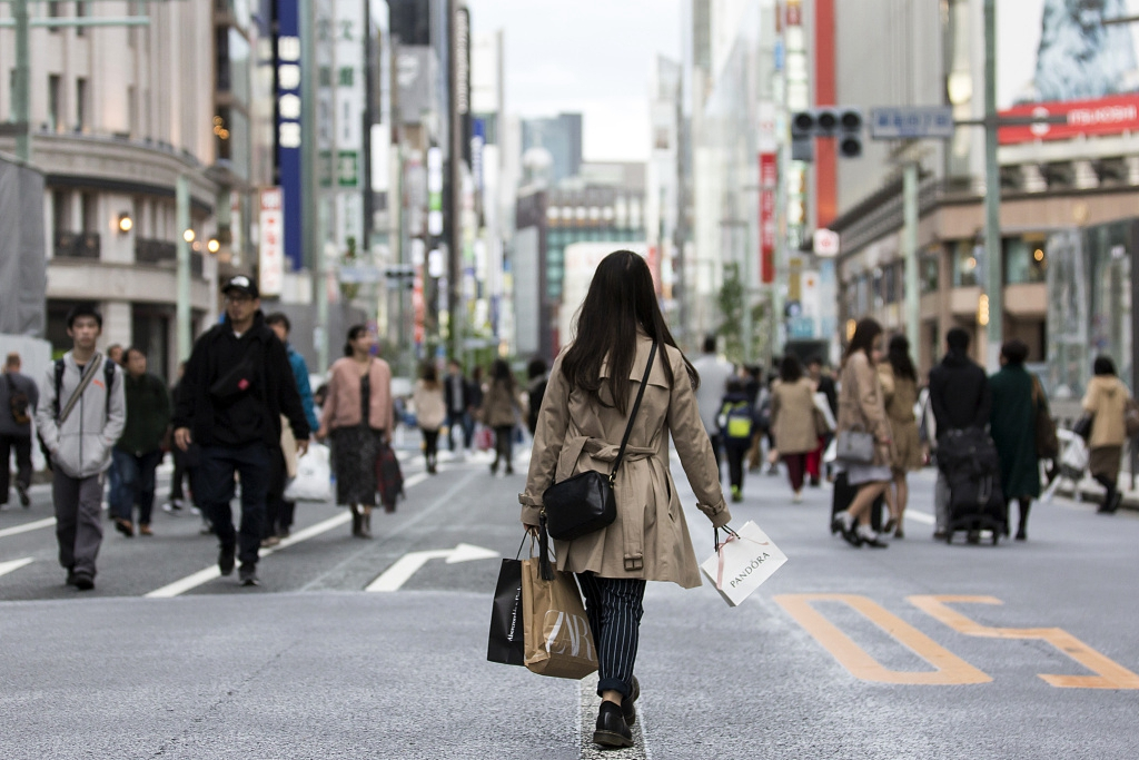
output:
[{"label": "woman in pink jacket and dark patterned skirt, facing the camera", "polygon": [[333,436],[336,502],[352,510],[352,534],[371,538],[376,458],[395,426],[392,369],[371,356],[376,340],[363,325],[349,329],[344,358],[329,370],[319,438]]}]

